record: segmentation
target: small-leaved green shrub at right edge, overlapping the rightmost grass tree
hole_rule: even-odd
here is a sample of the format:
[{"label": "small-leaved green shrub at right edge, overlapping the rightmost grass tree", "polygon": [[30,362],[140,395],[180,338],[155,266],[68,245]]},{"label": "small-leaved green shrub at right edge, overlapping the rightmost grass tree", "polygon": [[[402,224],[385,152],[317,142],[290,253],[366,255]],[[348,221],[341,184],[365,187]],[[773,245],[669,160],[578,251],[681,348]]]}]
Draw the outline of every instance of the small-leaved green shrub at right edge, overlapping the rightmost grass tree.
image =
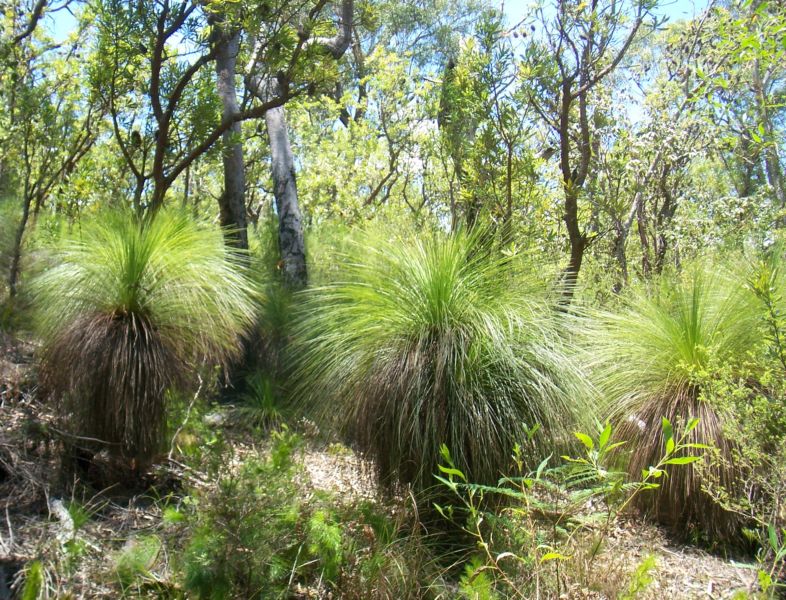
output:
[{"label": "small-leaved green shrub at right edge, overlapping the rightmost grass tree", "polygon": [[773,585],[786,571],[786,538],[781,533],[786,529],[781,500],[786,497],[782,264],[783,247],[775,245],[753,262],[748,277],[764,343],[751,349],[743,369],[721,365],[703,386],[705,400],[732,415],[723,424],[724,434],[736,442],[727,460],[733,461],[744,481],[729,485],[709,478],[706,487],[718,504],[744,519],[743,533],[759,546],[761,577]]}]

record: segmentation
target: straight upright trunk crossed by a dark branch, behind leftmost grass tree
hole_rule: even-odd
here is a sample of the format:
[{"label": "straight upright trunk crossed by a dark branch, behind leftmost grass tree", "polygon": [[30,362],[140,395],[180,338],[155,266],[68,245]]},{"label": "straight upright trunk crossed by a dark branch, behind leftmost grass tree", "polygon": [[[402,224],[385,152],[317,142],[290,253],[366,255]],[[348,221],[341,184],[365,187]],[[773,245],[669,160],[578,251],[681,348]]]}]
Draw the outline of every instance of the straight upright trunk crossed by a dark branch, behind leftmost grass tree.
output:
[{"label": "straight upright trunk crossed by a dark branch, behind leftmost grass tree", "polygon": [[[223,31],[216,35],[216,85],[221,99],[222,119],[240,111],[235,88],[235,66],[240,49],[240,30]],[[227,239],[237,248],[248,249],[246,219],[246,171],[240,122],[235,122],[222,136],[221,157],[224,163],[224,191],[218,199],[221,226]]]}]

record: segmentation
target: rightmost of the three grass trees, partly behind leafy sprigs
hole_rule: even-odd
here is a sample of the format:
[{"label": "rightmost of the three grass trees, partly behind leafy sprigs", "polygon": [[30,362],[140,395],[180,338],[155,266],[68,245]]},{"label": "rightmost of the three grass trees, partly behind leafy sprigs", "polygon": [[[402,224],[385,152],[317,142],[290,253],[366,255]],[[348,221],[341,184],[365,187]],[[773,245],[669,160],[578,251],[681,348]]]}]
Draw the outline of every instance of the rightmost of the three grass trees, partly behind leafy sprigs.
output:
[{"label": "rightmost of the three grass trees, partly behind leafy sprigs", "polygon": [[619,438],[628,440],[632,477],[662,456],[664,417],[675,425],[700,419],[689,441],[720,453],[701,469],[675,469],[641,496],[641,507],[676,531],[699,526],[716,539],[737,534],[736,517],[702,491],[705,478],[732,489],[738,477],[723,432],[726,415],[704,392],[714,369],[740,367],[760,341],[751,300],[742,280],[695,267],[632,292],[619,310],[598,315],[589,337],[596,383]]}]

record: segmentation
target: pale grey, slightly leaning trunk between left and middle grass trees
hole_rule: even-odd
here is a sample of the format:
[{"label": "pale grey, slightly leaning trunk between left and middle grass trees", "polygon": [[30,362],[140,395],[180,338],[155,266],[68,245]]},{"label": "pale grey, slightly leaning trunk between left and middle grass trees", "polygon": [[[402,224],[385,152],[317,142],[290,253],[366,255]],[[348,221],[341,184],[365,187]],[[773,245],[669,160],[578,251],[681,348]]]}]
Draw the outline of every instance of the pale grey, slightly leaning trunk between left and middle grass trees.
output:
[{"label": "pale grey, slightly leaning trunk between left and middle grass trees", "polygon": [[278,247],[281,268],[286,284],[293,289],[308,283],[306,248],[303,240],[303,223],[297,199],[295,160],[289,143],[284,107],[272,108],[265,113],[267,134],[270,138],[270,157],[273,173],[273,194],[278,213]]}]

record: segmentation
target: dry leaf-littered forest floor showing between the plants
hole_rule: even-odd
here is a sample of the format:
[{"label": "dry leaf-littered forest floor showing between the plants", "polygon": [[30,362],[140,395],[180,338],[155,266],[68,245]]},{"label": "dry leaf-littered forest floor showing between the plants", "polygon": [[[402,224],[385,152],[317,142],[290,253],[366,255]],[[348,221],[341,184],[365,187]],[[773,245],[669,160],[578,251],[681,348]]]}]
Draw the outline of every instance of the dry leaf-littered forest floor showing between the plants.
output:
[{"label": "dry leaf-littered forest floor showing between the plants", "polygon": [[[31,345],[0,332],[0,600],[14,597],[12,590],[18,592],[25,565],[41,557],[57,567],[45,572],[50,588],[68,590],[74,598],[116,598],[117,581],[107,574],[108,558],[135,536],[166,527],[157,501],[160,494],[173,488],[173,479],[190,479],[190,485],[199,486],[211,483],[182,465],[170,464],[156,474],[155,485],[144,494],[112,489],[83,498],[89,518],[75,523],[64,508],[70,500],[64,490],[74,486],[64,485],[62,476],[56,475],[61,472],[57,451],[50,445],[51,437],[43,434],[53,421],[35,398],[32,354]],[[242,439],[234,450],[238,457],[261,451]],[[348,499],[379,498],[370,465],[351,451],[308,447],[302,458],[304,490],[334,491]],[[654,581],[640,597],[730,598],[755,586],[753,564],[676,544],[665,531],[634,516],[614,525],[594,568],[602,570],[606,580],[625,579],[648,555],[656,559]],[[169,561],[159,560],[153,575],[145,597],[156,597],[157,582],[171,580]],[[561,597],[608,595],[574,588]]]}]

